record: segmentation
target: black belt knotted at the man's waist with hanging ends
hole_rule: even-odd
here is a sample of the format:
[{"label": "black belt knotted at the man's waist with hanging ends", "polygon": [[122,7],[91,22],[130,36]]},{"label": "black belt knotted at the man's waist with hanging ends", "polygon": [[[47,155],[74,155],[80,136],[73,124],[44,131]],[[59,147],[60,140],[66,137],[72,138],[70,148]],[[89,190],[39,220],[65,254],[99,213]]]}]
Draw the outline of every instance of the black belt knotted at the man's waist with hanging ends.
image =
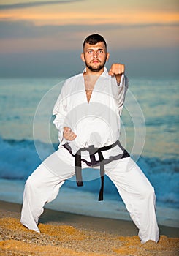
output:
[{"label": "black belt knotted at the man's waist with hanging ends", "polygon": [[[114,148],[115,146],[119,146],[123,150],[123,154],[118,154],[115,157],[110,157],[110,159],[104,159],[102,151],[107,151],[111,148]],[[70,154],[72,154],[71,147],[68,145],[68,143],[63,145],[64,148],[66,148]],[[81,159],[81,152],[88,151],[90,154],[90,160],[91,162],[86,161],[85,159]],[[99,160],[96,161],[95,154],[98,154]],[[124,157],[130,157],[129,153],[121,146],[121,143],[117,140],[115,143],[109,146],[104,146],[102,148],[95,148],[94,145],[88,146],[88,148],[80,148],[76,154],[72,154],[75,157],[75,174],[76,174],[76,181],[77,186],[82,187],[83,181],[82,181],[82,168],[81,168],[81,162],[85,162],[86,165],[90,167],[100,166],[100,176],[101,176],[101,188],[99,190],[99,201],[103,200],[103,192],[104,192],[104,165],[112,162],[113,160],[122,159]]]}]

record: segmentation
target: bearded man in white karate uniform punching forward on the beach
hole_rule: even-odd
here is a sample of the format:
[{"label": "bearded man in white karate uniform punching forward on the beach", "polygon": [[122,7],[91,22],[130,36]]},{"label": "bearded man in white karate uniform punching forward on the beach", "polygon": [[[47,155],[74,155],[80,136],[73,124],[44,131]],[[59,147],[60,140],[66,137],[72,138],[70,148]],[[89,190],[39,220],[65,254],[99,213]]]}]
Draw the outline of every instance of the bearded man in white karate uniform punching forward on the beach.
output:
[{"label": "bearded man in white karate uniform punching forward on the beach", "polygon": [[20,222],[39,232],[45,203],[54,200],[66,179],[75,174],[78,186],[83,186],[81,169],[90,166],[100,170],[99,200],[103,200],[105,172],[139,228],[141,242],[157,242],[154,189],[118,141],[128,87],[125,67],[115,63],[107,72],[104,65],[109,56],[102,36],[85,39],[81,54],[85,70],[66,80],[53,109],[60,146],[26,181]]}]

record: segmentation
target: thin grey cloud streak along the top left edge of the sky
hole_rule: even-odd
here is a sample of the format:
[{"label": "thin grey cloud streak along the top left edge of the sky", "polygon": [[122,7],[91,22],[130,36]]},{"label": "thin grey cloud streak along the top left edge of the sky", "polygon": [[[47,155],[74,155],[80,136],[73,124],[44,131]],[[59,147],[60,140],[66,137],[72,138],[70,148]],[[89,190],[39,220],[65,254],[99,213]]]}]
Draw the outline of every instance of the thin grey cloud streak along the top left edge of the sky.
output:
[{"label": "thin grey cloud streak along the top left edge of the sky", "polygon": [[66,0],[66,1],[34,1],[26,3],[16,3],[16,4],[0,4],[0,10],[9,10],[9,9],[22,9],[28,7],[38,7],[42,5],[51,5],[51,4],[69,4],[76,1],[82,0]]}]

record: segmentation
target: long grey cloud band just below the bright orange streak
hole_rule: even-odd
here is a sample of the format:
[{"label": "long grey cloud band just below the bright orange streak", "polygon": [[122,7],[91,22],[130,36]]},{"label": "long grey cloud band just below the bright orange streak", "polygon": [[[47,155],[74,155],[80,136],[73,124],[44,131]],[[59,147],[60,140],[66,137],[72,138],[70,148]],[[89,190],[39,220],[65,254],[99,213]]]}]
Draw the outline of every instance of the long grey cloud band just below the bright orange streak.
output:
[{"label": "long grey cloud band just below the bright orange streak", "polygon": [[115,31],[119,29],[145,29],[150,27],[178,27],[179,23],[146,23],[146,24],[132,24],[132,25],[121,25],[121,24],[99,24],[99,25],[44,25],[35,26],[30,21],[22,20],[0,20],[0,39],[27,39],[27,38],[41,38],[41,37],[58,37],[61,33],[63,34],[74,34],[74,33],[89,33],[92,31]]}]

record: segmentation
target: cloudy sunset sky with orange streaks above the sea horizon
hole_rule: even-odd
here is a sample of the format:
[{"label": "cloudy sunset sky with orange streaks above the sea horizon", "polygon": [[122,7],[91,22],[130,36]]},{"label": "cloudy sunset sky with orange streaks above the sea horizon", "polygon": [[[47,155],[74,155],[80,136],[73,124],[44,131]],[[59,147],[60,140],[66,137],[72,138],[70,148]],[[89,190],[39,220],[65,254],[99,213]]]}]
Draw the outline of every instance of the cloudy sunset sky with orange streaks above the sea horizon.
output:
[{"label": "cloudy sunset sky with orange streaks above the sea horizon", "polygon": [[179,77],[178,0],[0,0],[0,77],[82,72],[83,40],[102,34],[129,77]]}]

